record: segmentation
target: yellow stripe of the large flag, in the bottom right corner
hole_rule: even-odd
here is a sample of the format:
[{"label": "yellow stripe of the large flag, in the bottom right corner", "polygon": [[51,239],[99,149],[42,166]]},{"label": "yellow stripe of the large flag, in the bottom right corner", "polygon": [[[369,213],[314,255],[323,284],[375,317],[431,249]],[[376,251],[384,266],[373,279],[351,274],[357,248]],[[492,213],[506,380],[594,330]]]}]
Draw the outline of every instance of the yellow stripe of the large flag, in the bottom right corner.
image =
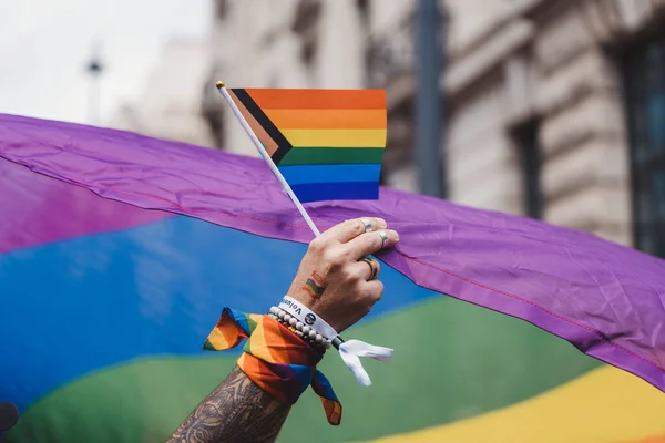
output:
[{"label": "yellow stripe of the large flag, in the bottom right corner", "polygon": [[604,367],[522,403],[375,443],[616,443],[664,433],[665,394],[635,375]]}]

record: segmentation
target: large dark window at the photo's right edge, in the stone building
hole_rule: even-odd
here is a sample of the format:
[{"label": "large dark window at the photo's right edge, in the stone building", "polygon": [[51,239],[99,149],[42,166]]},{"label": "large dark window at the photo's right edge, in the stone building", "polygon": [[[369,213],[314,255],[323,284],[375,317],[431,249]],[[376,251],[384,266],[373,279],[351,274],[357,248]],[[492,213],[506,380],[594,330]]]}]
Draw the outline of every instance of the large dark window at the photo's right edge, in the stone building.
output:
[{"label": "large dark window at the photo's right edge, in the stone building", "polygon": [[665,257],[665,37],[625,62],[635,247]]}]

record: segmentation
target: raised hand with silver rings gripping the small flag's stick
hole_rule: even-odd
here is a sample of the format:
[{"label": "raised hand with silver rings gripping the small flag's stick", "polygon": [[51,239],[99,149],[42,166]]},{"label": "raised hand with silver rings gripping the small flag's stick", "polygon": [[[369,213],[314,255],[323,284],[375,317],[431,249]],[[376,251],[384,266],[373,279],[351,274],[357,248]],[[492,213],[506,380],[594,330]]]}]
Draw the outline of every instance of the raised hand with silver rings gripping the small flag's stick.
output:
[{"label": "raised hand with silver rings gripping the small flag's stick", "polygon": [[383,284],[370,280],[371,267],[359,261],[382,248],[383,241],[377,230],[388,235],[386,247],[399,241],[399,235],[387,230],[382,218],[367,217],[367,220],[371,223],[371,231],[366,233],[362,220],[355,218],[315,238],[287,293],[337,332],[367,316],[383,295]]}]

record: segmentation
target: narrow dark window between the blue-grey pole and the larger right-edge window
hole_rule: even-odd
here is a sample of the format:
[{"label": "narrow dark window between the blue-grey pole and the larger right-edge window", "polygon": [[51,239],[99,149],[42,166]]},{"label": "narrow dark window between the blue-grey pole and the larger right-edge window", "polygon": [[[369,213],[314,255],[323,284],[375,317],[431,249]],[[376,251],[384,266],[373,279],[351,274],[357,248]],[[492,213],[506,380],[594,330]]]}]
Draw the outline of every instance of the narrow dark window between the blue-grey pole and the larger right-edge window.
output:
[{"label": "narrow dark window between the blue-grey pole and the larger right-edge window", "polygon": [[513,133],[522,169],[524,209],[529,217],[543,217],[543,193],[541,187],[541,151],[538,143],[539,122],[524,123]]}]

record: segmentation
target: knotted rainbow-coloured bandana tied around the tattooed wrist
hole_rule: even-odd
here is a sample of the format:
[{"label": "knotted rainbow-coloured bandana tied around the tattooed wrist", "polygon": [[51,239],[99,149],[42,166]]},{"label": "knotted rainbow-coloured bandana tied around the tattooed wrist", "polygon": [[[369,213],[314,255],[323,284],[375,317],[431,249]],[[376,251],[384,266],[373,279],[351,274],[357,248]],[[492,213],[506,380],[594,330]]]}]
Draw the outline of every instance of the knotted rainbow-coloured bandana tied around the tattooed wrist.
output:
[{"label": "knotted rainbow-coloured bandana tied around the tattooed wrist", "polygon": [[247,339],[238,368],[262,390],[294,404],[311,384],[328,423],[341,421],[341,403],[326,377],[316,369],[323,356],[270,316],[224,308],[203,349],[225,351]]}]

